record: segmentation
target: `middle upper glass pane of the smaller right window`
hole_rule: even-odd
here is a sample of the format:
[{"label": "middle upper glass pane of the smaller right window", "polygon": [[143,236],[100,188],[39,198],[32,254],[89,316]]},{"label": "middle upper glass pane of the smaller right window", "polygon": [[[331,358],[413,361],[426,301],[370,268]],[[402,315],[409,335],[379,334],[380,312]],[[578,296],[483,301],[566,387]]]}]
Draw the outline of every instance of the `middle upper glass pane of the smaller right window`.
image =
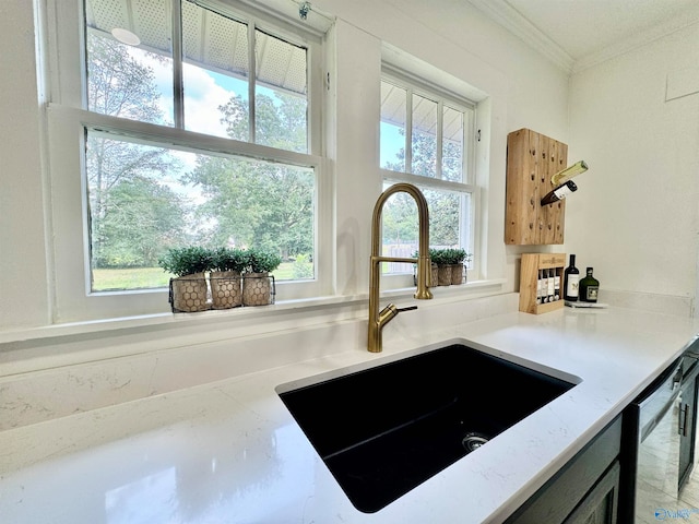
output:
[{"label": "middle upper glass pane of the smaller right window", "polygon": [[413,95],[413,166],[411,172],[437,176],[437,103]]}]

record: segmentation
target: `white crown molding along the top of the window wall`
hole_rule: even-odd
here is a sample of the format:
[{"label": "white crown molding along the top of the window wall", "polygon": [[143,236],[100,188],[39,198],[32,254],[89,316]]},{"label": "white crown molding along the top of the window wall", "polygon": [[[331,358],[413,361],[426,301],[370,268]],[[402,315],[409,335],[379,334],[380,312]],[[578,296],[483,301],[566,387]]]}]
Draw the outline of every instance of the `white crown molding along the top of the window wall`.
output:
[{"label": "white crown molding along the top of the window wall", "polygon": [[573,58],[505,0],[469,1],[490,20],[521,38],[566,73],[572,72]]}]

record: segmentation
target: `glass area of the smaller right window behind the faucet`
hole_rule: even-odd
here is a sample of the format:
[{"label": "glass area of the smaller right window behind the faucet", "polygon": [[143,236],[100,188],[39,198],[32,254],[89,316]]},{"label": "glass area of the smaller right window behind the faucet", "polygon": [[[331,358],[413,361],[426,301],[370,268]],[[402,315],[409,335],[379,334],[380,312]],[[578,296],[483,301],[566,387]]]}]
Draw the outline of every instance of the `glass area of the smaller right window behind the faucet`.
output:
[{"label": "glass area of the smaller right window behind the faucet", "polygon": [[[411,108],[411,111],[407,111]],[[384,188],[407,181],[420,188],[430,212],[430,247],[473,252],[475,187],[472,180],[474,110],[423,84],[392,75],[381,81],[380,165]],[[417,214],[410,196],[396,194],[383,211],[383,252],[412,257]],[[411,273],[410,264],[384,264],[388,273]]]}]

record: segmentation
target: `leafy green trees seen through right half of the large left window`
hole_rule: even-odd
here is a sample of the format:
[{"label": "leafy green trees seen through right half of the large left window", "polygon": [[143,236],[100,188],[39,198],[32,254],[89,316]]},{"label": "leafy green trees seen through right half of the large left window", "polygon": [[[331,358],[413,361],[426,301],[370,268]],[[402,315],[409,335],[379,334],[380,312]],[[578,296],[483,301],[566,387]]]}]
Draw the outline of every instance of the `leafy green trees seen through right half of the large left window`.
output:
[{"label": "leafy green trees seen through right half of the large left window", "polygon": [[[232,139],[249,138],[248,100],[234,96],[221,108]],[[307,151],[306,100],[276,93],[259,94],[256,142],[276,148]],[[284,259],[313,251],[311,169],[242,158],[199,156],[183,181],[198,184],[206,202],[197,214],[213,224],[205,241],[274,250]]]}]

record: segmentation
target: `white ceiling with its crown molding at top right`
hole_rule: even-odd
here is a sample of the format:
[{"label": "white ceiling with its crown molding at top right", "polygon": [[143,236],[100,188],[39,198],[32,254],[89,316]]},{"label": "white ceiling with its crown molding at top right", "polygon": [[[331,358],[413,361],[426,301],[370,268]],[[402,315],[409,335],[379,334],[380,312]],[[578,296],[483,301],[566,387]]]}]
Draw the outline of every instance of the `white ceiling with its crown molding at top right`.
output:
[{"label": "white ceiling with its crown molding at top right", "polygon": [[469,0],[566,69],[699,21],[699,0]]}]

